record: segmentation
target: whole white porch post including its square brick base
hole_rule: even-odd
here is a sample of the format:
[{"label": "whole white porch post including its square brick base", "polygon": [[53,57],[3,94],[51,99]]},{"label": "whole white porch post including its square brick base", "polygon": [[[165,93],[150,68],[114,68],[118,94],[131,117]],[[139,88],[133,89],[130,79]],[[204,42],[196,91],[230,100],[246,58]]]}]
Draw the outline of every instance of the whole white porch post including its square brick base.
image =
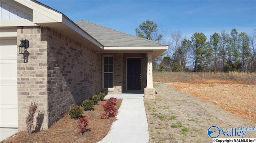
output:
[{"label": "whole white porch post including its square brick base", "polygon": [[156,89],[153,87],[152,52],[148,52],[147,87],[144,88],[144,98],[156,98]]}]

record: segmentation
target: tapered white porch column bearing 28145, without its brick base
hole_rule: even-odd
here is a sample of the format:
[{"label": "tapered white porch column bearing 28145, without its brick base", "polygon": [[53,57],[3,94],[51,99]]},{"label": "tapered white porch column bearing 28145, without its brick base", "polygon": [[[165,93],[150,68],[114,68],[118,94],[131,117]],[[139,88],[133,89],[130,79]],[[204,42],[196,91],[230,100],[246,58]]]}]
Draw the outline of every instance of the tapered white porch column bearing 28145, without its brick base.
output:
[{"label": "tapered white porch column bearing 28145, without its brick base", "polygon": [[152,52],[148,53],[147,88],[153,88]]}]

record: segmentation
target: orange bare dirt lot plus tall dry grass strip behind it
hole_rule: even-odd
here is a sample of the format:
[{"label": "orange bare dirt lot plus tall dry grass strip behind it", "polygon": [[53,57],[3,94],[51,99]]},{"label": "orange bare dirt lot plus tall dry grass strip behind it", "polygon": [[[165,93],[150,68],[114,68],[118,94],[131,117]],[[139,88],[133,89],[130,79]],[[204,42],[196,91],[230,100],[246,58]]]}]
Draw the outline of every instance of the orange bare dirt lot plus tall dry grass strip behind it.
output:
[{"label": "orange bare dirt lot plus tall dry grass strip behind it", "polygon": [[256,123],[256,73],[153,72],[153,80]]}]

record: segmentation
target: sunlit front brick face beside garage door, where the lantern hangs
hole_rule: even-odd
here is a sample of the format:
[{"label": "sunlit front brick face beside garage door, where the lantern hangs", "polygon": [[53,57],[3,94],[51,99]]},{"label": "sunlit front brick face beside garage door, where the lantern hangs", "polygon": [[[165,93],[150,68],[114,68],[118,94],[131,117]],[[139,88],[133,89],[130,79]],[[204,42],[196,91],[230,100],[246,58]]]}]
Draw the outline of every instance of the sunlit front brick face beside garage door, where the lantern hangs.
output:
[{"label": "sunlit front brick face beside garage door, where the lantern hangs", "polygon": [[[38,128],[48,129],[47,125],[47,41],[44,29],[38,26],[17,27],[17,45],[23,38],[29,40],[28,63],[18,53],[18,131],[26,130],[26,116],[32,101],[38,102],[38,112],[43,122]],[[27,54],[28,54],[27,53]]]}]

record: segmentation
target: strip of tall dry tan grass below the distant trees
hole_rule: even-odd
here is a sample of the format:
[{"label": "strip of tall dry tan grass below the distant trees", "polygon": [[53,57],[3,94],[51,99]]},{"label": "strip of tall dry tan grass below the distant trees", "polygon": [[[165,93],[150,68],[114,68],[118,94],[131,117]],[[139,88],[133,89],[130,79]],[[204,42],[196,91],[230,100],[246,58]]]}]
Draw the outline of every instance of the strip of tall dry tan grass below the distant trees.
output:
[{"label": "strip of tall dry tan grass below the distant trees", "polygon": [[256,73],[247,72],[153,72],[155,82],[202,83],[204,80],[219,79],[220,83],[256,84]]}]

